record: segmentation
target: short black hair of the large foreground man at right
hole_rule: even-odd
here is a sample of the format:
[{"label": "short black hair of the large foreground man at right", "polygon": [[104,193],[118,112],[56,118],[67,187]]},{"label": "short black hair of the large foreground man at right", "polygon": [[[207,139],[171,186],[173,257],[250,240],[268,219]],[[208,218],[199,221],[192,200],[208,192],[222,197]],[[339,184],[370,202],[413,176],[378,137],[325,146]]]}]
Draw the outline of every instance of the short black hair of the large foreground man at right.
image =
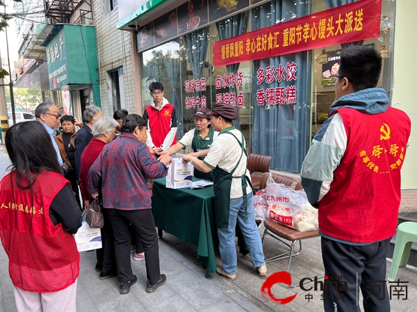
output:
[{"label": "short black hair of the large foreground man at right", "polygon": [[349,46],[342,50],[338,76],[346,77],[355,92],[375,88],[381,75],[381,53],[370,46]]}]

